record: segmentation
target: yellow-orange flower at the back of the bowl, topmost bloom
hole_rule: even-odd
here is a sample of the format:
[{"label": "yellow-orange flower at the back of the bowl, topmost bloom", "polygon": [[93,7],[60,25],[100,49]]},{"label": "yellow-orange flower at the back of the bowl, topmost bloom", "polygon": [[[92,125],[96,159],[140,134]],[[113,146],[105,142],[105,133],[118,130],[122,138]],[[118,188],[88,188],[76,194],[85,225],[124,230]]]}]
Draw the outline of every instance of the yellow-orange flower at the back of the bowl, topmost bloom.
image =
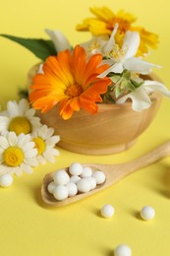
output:
[{"label": "yellow-orange flower at the back of the bowl, topmost bloom", "polygon": [[125,32],[139,32],[141,36],[141,44],[139,47],[138,55],[143,55],[148,52],[148,46],[156,48],[158,43],[158,35],[152,32],[147,32],[141,27],[134,27],[133,23],[136,18],[124,11],[119,11],[114,14],[109,8],[90,8],[94,18],[85,19],[83,24],[77,26],[77,31],[91,32],[93,35],[98,36],[102,34],[111,35],[116,24],[119,24],[119,30],[115,36],[116,43],[122,46],[123,37]]}]

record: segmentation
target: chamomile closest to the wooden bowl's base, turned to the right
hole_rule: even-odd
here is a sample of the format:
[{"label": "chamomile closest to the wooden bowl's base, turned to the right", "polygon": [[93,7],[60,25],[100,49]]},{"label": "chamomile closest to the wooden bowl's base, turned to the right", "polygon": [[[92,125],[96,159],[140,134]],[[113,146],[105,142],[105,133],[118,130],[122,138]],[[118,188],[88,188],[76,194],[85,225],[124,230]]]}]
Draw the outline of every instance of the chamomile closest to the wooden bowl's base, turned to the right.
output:
[{"label": "chamomile closest to the wooden bowl's base, turned to the right", "polygon": [[54,134],[53,128],[48,128],[46,125],[42,125],[31,135],[32,140],[37,149],[36,159],[44,164],[47,161],[54,162],[55,157],[59,156],[59,151],[55,149],[55,145],[59,142],[60,137]]}]

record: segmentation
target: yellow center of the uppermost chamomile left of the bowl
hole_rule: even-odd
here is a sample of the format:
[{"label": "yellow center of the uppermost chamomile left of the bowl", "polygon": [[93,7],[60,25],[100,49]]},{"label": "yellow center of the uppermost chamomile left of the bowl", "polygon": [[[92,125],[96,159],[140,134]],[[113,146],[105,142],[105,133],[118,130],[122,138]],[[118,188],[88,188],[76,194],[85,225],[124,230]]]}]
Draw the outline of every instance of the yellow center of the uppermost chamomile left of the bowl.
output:
[{"label": "yellow center of the uppermost chamomile left of the bowl", "polygon": [[31,124],[27,117],[17,116],[11,120],[9,131],[15,132],[17,135],[21,133],[28,134],[31,132]]}]

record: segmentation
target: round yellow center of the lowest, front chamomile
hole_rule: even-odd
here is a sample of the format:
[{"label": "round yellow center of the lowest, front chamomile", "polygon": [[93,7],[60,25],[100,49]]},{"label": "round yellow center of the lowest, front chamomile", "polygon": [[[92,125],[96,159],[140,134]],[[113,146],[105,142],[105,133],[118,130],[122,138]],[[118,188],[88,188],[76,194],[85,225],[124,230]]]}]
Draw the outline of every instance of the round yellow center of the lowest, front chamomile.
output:
[{"label": "round yellow center of the lowest, front chamomile", "polygon": [[23,151],[17,147],[8,148],[5,150],[3,154],[4,162],[8,166],[12,166],[12,167],[19,166],[23,162],[24,158],[25,156]]}]

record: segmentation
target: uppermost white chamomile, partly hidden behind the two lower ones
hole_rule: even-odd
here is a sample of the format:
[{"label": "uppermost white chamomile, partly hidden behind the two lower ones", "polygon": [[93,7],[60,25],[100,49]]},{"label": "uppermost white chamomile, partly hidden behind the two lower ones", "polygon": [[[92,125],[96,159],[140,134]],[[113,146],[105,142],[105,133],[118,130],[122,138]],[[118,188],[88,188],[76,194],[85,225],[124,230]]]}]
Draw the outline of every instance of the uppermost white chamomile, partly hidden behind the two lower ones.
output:
[{"label": "uppermost white chamomile, partly hidden behind the two lower ones", "polygon": [[22,98],[19,103],[8,101],[7,110],[0,114],[0,132],[15,132],[17,135],[32,133],[40,126],[40,119],[34,113],[26,98]]}]

